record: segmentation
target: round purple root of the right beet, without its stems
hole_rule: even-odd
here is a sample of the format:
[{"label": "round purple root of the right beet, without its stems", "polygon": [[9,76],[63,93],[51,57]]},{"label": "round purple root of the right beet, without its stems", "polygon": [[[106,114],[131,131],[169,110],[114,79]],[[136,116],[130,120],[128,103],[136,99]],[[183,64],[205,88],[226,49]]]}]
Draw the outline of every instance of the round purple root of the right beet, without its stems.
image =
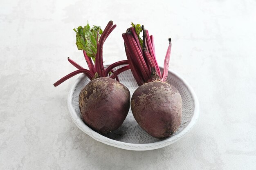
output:
[{"label": "round purple root of the right beet, without its stems", "polygon": [[182,98],[166,82],[149,82],[137,88],[131,99],[132,114],[149,135],[170,137],[180,126]]}]

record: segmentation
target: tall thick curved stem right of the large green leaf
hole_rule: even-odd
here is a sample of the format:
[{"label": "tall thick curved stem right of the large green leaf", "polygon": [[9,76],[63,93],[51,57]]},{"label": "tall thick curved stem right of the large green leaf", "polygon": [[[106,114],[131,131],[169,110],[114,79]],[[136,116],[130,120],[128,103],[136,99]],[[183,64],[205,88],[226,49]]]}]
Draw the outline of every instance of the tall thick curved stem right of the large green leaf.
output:
[{"label": "tall thick curved stem right of the large green leaf", "polygon": [[99,46],[97,47],[95,68],[100,77],[105,77],[105,70],[104,70],[103,59],[102,59],[102,54],[103,54],[102,47],[106,40],[106,37],[109,35],[108,32],[110,32],[112,25],[113,25],[113,21],[108,22],[106,28],[101,34],[101,37],[99,39]]}]

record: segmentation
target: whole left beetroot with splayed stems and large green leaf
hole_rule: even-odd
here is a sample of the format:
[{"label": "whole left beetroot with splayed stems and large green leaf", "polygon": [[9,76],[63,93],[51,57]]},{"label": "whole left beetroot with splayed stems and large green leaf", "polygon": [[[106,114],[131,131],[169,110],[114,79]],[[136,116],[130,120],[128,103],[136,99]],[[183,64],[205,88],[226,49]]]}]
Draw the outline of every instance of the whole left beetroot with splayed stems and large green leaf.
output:
[{"label": "whole left beetroot with splayed stems and large green leaf", "polygon": [[117,66],[128,64],[128,61],[116,62],[106,69],[103,66],[102,46],[115,27],[116,25],[110,21],[104,31],[99,26],[90,28],[89,24],[74,29],[77,48],[83,51],[89,70],[68,58],[68,61],[78,70],[54,83],[54,86],[58,86],[79,73],[85,73],[90,78],[91,82],[80,92],[79,108],[85,124],[102,134],[119,128],[130,108],[130,92],[128,88],[118,82],[117,77],[123,71],[130,69],[130,66],[113,70]]}]

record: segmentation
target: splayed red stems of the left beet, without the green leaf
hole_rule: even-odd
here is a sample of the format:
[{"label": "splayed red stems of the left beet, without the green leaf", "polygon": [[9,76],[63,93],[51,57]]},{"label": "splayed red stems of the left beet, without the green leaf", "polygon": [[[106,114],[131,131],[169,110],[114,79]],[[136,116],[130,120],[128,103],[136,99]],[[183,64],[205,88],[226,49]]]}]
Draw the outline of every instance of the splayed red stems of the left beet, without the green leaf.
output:
[{"label": "splayed red stems of the left beet, without the green leaf", "polygon": [[130,69],[130,66],[123,66],[119,69],[117,69],[116,71],[114,71],[113,69],[117,66],[121,66],[121,65],[125,65],[128,64],[127,60],[122,60],[119,62],[115,62],[113,64],[111,64],[110,66],[108,66],[107,68],[104,68],[103,65],[103,44],[106,41],[106,39],[108,38],[108,35],[110,35],[110,33],[115,29],[117,25],[113,25],[113,22],[110,21],[108,22],[106,28],[104,29],[104,31],[101,34],[101,37],[99,38],[99,42],[97,42],[97,53],[96,53],[96,57],[95,57],[95,64],[93,64],[91,57],[88,57],[88,55],[86,54],[86,52],[83,50],[83,55],[85,57],[85,61],[88,65],[88,69],[83,68],[82,66],[80,66],[79,64],[77,64],[76,62],[74,62],[73,60],[71,60],[69,57],[67,58],[67,60],[73,65],[75,66],[78,70],[66,75],[65,77],[61,78],[60,80],[58,80],[56,83],[54,83],[54,86],[58,86],[61,83],[65,82],[67,79],[73,77],[74,75],[77,75],[79,73],[84,73],[90,80],[98,78],[98,77],[108,77],[110,75],[110,73],[112,73],[112,75],[110,76],[110,78],[112,79],[116,79],[117,81],[119,81],[117,75],[119,75],[120,73]]}]

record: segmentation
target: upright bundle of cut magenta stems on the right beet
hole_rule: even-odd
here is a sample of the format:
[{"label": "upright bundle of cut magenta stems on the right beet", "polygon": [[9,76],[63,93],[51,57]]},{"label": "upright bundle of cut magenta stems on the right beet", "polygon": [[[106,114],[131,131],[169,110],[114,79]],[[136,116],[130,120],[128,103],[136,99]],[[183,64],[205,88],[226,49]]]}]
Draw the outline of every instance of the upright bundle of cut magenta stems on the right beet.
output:
[{"label": "upright bundle of cut magenta stems on the right beet", "polygon": [[166,82],[168,76],[169,60],[171,55],[171,38],[164,60],[164,71],[161,74],[155,57],[155,45],[153,35],[141,26],[143,31],[143,43],[141,45],[134,27],[123,33],[126,56],[132,74],[139,86],[146,82],[159,80]]}]

